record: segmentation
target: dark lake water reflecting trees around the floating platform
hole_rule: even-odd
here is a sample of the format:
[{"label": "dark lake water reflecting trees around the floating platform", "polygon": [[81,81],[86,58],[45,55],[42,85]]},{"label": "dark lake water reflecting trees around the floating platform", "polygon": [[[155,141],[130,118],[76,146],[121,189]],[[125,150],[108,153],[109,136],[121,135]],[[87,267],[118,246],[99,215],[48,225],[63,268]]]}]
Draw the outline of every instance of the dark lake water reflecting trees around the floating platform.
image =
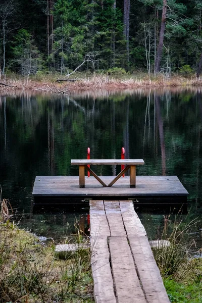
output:
[{"label": "dark lake water reflecting trees around the floating platform", "polygon": [[[126,158],[145,161],[137,174],[178,176],[189,192],[189,213],[177,220],[198,218],[189,233],[201,246],[201,143],[202,90],[198,88],[0,96],[2,195],[17,209],[16,222],[41,236],[70,235],[76,220],[87,230],[88,210],[36,212],[31,194],[35,176],[78,175],[70,160],[85,159],[88,146],[92,159],[120,158],[124,146]],[[119,167],[96,168],[98,175],[119,171]],[[155,209],[139,214],[149,238],[160,236],[167,214]]]}]

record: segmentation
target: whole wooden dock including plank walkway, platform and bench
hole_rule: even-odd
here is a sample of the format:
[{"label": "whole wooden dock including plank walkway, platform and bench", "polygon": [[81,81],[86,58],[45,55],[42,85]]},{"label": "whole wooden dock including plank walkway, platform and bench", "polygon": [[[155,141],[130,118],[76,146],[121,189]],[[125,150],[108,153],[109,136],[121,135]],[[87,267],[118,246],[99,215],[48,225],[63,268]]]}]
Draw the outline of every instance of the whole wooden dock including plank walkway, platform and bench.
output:
[{"label": "whole wooden dock including plank walkway, platform and bench", "polygon": [[[134,199],[186,203],[176,176],[137,176],[138,160],[72,160],[79,176],[36,176],[35,203],[90,199],[91,266],[96,303],[167,303],[169,298]],[[97,176],[89,165],[126,165],[118,176]],[[85,169],[92,175],[85,177]],[[122,175],[130,170],[130,176]],[[58,201],[58,200],[57,200]],[[56,202],[55,202],[56,203]],[[81,202],[82,203],[82,202]],[[150,202],[148,202],[150,203]]]}]

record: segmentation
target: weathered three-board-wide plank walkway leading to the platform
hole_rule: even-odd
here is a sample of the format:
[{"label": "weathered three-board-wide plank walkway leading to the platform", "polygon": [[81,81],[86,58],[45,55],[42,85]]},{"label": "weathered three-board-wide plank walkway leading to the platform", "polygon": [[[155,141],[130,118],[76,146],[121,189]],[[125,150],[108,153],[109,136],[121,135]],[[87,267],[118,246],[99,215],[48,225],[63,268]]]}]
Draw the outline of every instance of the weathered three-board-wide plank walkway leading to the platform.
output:
[{"label": "weathered three-board-wide plank walkway leading to the platform", "polygon": [[133,203],[90,200],[91,267],[96,303],[169,303]]}]

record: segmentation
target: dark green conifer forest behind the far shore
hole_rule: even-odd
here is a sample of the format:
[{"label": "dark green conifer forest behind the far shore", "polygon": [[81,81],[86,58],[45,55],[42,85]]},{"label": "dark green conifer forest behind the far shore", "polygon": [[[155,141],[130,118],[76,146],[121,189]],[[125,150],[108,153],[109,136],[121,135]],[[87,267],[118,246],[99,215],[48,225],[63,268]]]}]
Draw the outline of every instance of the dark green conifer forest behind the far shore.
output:
[{"label": "dark green conifer forest behind the far shore", "polygon": [[202,0],[1,0],[1,74],[196,73]]}]

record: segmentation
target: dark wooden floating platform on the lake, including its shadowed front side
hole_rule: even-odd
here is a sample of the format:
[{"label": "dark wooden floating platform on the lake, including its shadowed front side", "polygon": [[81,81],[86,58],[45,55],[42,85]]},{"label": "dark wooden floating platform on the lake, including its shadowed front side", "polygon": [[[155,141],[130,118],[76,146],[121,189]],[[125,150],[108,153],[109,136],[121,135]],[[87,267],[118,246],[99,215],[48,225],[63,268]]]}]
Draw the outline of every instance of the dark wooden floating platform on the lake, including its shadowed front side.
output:
[{"label": "dark wooden floating platform on the lake, including its shadowed front side", "polygon": [[[109,184],[114,176],[101,176]],[[121,177],[112,187],[103,187],[94,177],[85,177],[85,188],[79,188],[79,176],[36,176],[33,192],[37,203],[68,203],[75,199],[133,199],[148,204],[184,204],[188,192],[177,176],[136,176],[136,188],[130,188],[130,177]],[[52,200],[52,202],[51,202]],[[61,202],[63,201],[63,202]]]}]

